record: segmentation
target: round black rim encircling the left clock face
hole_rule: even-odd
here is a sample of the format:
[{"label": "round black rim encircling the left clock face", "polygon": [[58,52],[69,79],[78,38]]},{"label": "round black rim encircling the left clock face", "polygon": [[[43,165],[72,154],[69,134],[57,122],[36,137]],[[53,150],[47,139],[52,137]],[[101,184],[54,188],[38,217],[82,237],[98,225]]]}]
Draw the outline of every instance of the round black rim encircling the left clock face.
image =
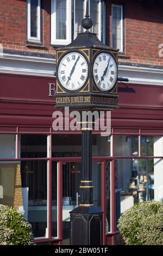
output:
[{"label": "round black rim encircling the left clock face", "polygon": [[[58,78],[58,77],[59,77],[59,76],[58,76],[58,67],[59,67],[59,64],[60,64],[62,58],[64,58],[68,53],[72,53],[72,52],[80,53],[80,54],[85,58],[86,63],[87,63],[87,67],[88,67],[88,72],[87,72],[86,81],[85,81],[85,83],[83,84],[83,86],[80,87],[80,88],[77,89],[77,90],[68,90],[68,89],[66,89],[64,86],[62,86],[62,84],[60,83],[59,78]],[[59,61],[58,61],[58,63],[57,63],[56,74],[57,74],[57,82],[58,82],[59,86],[61,86],[61,89],[62,89],[62,90],[64,90],[64,91],[67,92],[67,93],[76,93],[76,92],[80,92],[80,90],[82,90],[82,89],[86,86],[87,82],[89,81],[89,77],[90,77],[90,75],[89,75],[89,74],[90,74],[90,63],[89,63],[89,61],[87,60],[87,57],[84,56],[83,52],[81,52],[81,51],[79,51],[79,50],[68,50],[68,51],[65,51],[64,53],[61,54],[61,56],[60,56],[60,58],[59,58]]]}]

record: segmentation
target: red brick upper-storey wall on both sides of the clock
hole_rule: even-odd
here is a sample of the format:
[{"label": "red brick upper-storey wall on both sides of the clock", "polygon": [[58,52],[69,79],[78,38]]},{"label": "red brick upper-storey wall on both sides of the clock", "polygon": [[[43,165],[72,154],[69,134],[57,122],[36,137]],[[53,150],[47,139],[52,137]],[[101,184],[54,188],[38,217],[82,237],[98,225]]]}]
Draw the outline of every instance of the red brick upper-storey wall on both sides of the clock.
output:
[{"label": "red brick upper-storey wall on both sides of the clock", "polygon": [[[0,44],[3,47],[55,53],[51,40],[51,1],[42,0],[42,45],[27,45],[26,0],[0,1]],[[149,1],[148,1],[149,2]],[[106,44],[111,45],[111,3],[124,5],[124,56],[121,62],[162,65],[159,44],[163,44],[163,1],[143,5],[139,0],[106,0]],[[107,33],[107,32],[110,33]]]}]

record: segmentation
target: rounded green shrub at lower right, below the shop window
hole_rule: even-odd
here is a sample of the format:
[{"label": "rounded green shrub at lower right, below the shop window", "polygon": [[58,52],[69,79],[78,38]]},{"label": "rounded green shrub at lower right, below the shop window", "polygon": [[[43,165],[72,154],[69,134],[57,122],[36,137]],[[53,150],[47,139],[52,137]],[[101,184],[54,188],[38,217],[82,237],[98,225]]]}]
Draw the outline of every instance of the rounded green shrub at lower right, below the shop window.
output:
[{"label": "rounded green shrub at lower right, below the shop window", "polygon": [[123,212],[118,228],[127,245],[163,245],[163,202],[135,204]]}]

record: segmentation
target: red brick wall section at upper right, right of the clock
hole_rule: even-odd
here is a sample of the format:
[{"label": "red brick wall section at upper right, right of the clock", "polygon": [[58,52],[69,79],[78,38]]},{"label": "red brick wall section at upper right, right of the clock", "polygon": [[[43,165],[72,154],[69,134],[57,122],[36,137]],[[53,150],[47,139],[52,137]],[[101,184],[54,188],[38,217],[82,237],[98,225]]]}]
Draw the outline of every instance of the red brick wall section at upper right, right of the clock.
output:
[{"label": "red brick wall section at upper right, right of the clock", "polygon": [[124,9],[124,57],[119,61],[162,65],[159,44],[163,44],[163,1],[143,4],[138,0],[106,0],[106,43],[111,45],[111,3]]}]

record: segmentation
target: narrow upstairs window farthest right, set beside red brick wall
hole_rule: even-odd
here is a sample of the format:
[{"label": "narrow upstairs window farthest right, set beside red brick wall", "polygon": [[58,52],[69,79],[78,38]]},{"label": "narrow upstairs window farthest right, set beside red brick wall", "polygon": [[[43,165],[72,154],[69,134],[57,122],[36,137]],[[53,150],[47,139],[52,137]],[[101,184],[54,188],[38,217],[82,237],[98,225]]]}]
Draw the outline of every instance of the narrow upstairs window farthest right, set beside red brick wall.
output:
[{"label": "narrow upstairs window farthest right, set beside red brick wall", "polygon": [[123,52],[123,6],[112,4],[112,47]]}]

